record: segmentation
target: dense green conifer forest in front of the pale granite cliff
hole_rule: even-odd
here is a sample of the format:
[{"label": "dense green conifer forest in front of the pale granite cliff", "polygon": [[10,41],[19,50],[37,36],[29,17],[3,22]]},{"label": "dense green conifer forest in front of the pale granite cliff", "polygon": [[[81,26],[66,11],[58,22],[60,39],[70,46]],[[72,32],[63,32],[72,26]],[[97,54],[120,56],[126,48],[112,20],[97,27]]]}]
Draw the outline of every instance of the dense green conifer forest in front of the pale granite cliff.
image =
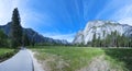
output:
[{"label": "dense green conifer forest in front of the pale granite cliff", "polygon": [[132,47],[132,37],[127,37],[125,35],[120,35],[117,31],[111,32],[106,36],[103,32],[103,37],[100,38],[94,34],[94,38],[86,46],[91,47]]}]

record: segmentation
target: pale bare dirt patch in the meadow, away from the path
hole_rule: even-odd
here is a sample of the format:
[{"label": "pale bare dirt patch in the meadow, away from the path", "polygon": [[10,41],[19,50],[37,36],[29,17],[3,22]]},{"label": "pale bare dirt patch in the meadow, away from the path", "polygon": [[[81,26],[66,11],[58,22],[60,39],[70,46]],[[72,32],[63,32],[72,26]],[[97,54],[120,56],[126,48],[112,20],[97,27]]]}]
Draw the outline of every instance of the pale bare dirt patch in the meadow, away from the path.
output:
[{"label": "pale bare dirt patch in the meadow, away from the path", "polygon": [[105,56],[96,57],[89,66],[77,71],[110,71],[109,63],[105,60]]}]

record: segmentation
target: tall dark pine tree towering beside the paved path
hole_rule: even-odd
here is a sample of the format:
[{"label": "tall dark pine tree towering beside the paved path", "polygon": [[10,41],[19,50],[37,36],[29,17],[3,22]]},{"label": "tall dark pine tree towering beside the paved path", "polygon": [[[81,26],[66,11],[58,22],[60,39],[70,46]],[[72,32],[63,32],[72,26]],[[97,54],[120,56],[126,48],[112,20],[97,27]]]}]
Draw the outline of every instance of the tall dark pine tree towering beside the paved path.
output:
[{"label": "tall dark pine tree towering beside the paved path", "polygon": [[22,46],[22,26],[20,22],[20,14],[18,8],[15,8],[13,10],[11,24],[11,46],[14,48]]}]

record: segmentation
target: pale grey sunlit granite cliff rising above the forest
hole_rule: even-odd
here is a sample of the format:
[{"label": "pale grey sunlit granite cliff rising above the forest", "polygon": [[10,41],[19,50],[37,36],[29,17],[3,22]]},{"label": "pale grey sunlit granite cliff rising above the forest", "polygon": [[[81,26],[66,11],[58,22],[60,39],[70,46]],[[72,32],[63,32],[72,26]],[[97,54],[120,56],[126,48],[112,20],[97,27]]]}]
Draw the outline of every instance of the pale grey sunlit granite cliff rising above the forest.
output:
[{"label": "pale grey sunlit granite cliff rising above the forest", "polygon": [[79,31],[74,39],[74,44],[87,44],[91,42],[94,38],[94,34],[96,37],[100,37],[103,39],[111,32],[118,32],[120,35],[124,35],[127,37],[132,37],[132,26],[127,24],[120,24],[110,21],[90,21],[87,23],[84,31]]}]

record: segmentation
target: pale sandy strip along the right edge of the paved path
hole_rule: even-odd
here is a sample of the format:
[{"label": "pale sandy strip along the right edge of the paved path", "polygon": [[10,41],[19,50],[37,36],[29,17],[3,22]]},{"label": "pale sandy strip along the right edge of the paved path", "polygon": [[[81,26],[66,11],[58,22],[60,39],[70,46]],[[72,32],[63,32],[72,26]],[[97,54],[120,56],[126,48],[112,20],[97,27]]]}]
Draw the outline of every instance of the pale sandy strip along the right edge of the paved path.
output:
[{"label": "pale sandy strip along the right edge of the paved path", "polygon": [[33,66],[34,66],[34,71],[45,71],[43,70],[41,63],[38,63],[38,61],[36,60],[36,58],[34,57],[34,52],[31,51],[30,49],[28,49],[32,59],[33,59]]}]

